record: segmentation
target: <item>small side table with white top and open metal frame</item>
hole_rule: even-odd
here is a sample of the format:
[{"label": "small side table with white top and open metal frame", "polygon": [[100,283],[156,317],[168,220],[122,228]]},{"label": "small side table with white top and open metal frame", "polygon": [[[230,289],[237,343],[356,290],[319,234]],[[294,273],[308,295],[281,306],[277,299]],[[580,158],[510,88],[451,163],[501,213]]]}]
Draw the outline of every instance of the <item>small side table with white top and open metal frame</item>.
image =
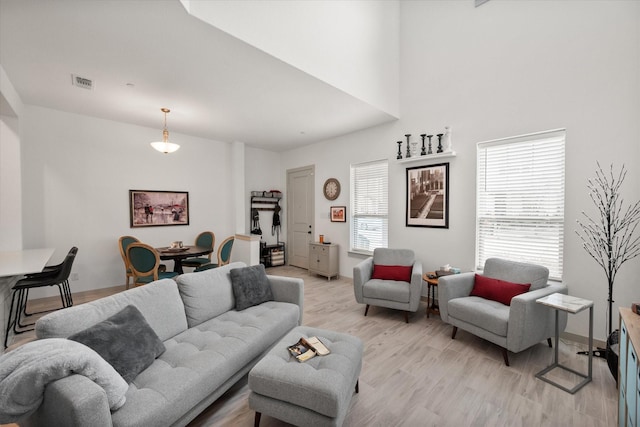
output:
[{"label": "small side table with white top and open metal frame", "polygon": [[[593,348],[593,301],[572,297],[571,295],[555,293],[555,294],[548,295],[544,298],[539,298],[536,300],[536,302],[539,304],[544,304],[556,310],[556,348],[554,349],[554,353],[553,353],[553,363],[550,366],[544,368],[542,371],[538,372],[536,374],[536,378],[539,378],[542,381],[548,382],[549,384],[552,384],[568,393],[574,394],[576,391],[584,387],[587,383],[591,382],[591,379],[593,378],[593,352],[591,351],[591,349]],[[585,375],[571,368],[563,366],[560,364],[560,362],[558,362],[558,343],[560,341],[560,331],[558,329],[558,313],[560,312],[560,310],[562,310],[571,314],[576,314],[576,313],[580,313],[583,310],[586,310],[587,308],[589,309],[589,348],[588,348],[589,372],[587,373],[587,375]],[[547,372],[555,368],[564,369],[565,371],[571,372],[572,374],[576,374],[579,377],[582,377],[584,379],[580,381],[580,383],[578,383],[572,389],[568,389],[563,385],[558,384],[544,377],[544,375]]]}]

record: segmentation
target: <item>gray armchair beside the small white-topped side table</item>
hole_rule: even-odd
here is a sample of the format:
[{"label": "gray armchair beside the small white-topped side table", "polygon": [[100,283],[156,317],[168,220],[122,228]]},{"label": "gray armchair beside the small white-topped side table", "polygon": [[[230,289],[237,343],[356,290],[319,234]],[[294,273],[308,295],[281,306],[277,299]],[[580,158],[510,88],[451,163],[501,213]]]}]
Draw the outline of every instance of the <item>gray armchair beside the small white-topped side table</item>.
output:
[{"label": "gray armchair beside the small white-topped side table", "polygon": [[[475,282],[475,273],[453,274],[438,280],[440,317],[453,325],[451,338],[458,328],[491,341],[502,347],[504,363],[509,366],[507,351],[518,353],[540,341],[555,336],[555,313],[538,298],[559,292],[567,294],[562,284],[549,284],[549,270],[534,264],[489,258],[483,276],[513,283],[531,283],[528,292],[511,300],[511,305],[469,296]],[[567,326],[567,313],[560,312],[559,330]]]}]

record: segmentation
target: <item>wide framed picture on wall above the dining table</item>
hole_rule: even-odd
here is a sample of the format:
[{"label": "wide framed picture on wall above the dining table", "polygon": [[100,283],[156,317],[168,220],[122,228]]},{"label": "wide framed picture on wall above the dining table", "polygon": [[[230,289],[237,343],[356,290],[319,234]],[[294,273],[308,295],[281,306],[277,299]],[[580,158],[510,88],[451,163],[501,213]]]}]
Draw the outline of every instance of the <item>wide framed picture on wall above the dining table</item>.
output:
[{"label": "wide framed picture on wall above the dining table", "polygon": [[131,228],[189,225],[186,191],[129,190]]}]

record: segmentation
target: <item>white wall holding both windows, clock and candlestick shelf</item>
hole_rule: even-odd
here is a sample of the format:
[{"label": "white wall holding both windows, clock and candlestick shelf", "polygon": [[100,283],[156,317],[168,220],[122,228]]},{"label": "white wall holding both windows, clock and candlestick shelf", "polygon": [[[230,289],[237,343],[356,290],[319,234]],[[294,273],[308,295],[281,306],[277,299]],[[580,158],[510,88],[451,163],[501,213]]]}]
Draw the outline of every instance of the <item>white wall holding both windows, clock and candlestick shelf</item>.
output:
[{"label": "white wall holding both windows, clock and candlestick shelf", "polygon": [[[360,259],[347,255],[348,225],[329,223],[328,206],[349,205],[349,163],[387,157],[390,246],[414,249],[424,268],[474,267],[476,143],[564,127],[566,209],[564,282],[595,302],[595,336],[604,339],[604,274],[575,234],[590,211],[586,181],[596,161],[624,163],[627,201],[640,197],[640,2],[521,1],[401,3],[401,120],[283,154],[283,170],[316,165],[316,231],[341,246],[340,274]],[[405,133],[453,127],[458,156],[450,162],[448,230],[405,227],[405,167],[395,141]],[[343,193],[327,202],[320,186],[336,177]],[[638,259],[623,266],[618,306],[640,301]],[[570,316],[568,332],[586,336],[586,315]]]}]

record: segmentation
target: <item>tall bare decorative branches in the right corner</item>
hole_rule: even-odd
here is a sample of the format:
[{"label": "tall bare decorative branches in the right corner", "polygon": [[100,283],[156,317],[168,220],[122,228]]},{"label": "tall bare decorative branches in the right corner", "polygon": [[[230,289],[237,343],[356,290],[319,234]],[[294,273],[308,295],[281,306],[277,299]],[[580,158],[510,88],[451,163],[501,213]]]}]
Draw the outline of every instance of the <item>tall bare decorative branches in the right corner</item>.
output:
[{"label": "tall bare decorative branches in the right corner", "polygon": [[626,176],[624,165],[616,175],[613,164],[609,173],[605,174],[598,163],[596,177],[587,180],[589,197],[596,207],[598,216],[593,219],[583,211],[584,218],[576,220],[582,229],[582,232],[576,230],[576,234],[582,240],[582,247],[602,267],[607,277],[607,334],[611,334],[611,304],[616,275],[625,262],[640,256],[640,235],[636,235],[640,223],[640,200],[626,209],[623,208],[624,200],[620,197],[620,189]]}]

